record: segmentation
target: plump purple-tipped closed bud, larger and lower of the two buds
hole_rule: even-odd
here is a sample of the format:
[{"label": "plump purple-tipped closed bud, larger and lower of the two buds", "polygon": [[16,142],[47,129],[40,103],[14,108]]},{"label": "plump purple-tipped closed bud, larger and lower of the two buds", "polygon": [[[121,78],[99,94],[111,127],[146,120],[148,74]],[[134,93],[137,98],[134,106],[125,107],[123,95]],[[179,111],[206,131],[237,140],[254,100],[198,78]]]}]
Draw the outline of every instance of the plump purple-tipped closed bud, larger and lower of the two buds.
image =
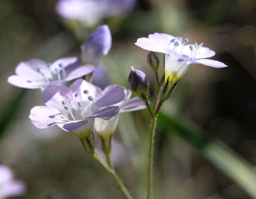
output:
[{"label": "plump purple-tipped closed bud, larger and lower of the two buds", "polygon": [[133,66],[131,66],[131,69],[128,77],[130,89],[135,92],[142,101],[146,102],[149,98],[150,88],[148,77],[142,71],[134,69]]}]

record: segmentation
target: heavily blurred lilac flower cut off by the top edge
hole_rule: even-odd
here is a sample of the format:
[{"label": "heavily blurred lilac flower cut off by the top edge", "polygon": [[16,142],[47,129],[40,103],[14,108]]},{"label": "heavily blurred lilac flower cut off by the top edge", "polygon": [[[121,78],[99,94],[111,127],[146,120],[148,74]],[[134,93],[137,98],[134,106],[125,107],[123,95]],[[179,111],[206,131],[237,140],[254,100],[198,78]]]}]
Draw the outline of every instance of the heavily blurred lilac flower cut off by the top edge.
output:
[{"label": "heavily blurred lilac flower cut off by the top edge", "polygon": [[59,0],[56,11],[66,19],[93,26],[103,18],[126,14],[134,8],[135,3],[136,0]]}]

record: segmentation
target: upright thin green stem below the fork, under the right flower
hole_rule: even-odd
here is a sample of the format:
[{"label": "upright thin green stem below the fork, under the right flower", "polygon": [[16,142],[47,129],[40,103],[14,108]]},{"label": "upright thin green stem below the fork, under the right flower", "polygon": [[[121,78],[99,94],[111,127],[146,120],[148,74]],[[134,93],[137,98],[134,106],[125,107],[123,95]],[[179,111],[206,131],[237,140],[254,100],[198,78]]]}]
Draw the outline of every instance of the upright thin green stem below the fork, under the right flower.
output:
[{"label": "upright thin green stem below the fork, under the right flower", "polygon": [[153,151],[154,151],[154,138],[155,138],[155,126],[157,117],[151,119],[150,128],[150,143],[149,143],[149,154],[148,154],[148,199],[152,197],[152,184],[153,184]]}]

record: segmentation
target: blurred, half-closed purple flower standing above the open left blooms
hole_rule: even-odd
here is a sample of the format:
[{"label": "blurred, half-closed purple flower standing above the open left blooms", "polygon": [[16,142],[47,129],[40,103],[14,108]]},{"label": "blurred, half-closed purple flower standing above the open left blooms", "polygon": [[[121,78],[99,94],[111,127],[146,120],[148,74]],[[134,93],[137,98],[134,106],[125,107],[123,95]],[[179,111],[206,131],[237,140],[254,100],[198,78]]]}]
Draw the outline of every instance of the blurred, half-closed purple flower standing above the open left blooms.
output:
[{"label": "blurred, half-closed purple flower standing above the open left blooms", "polygon": [[99,26],[81,45],[83,64],[98,66],[111,48],[112,37],[108,25]]}]

